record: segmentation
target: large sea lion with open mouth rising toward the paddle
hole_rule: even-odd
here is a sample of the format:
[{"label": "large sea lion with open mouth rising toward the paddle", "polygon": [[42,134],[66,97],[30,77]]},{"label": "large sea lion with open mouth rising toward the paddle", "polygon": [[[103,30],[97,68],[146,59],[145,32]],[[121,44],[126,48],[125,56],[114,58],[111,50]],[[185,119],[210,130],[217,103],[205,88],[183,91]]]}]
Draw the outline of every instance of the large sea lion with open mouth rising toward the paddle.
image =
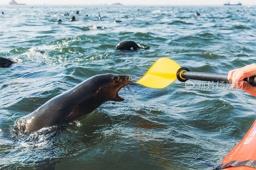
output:
[{"label": "large sea lion with open mouth rising toward the paddle", "polygon": [[124,98],[118,95],[118,91],[128,84],[134,85],[129,76],[116,74],[93,76],[18,119],[13,130],[31,133],[87,115],[106,101],[123,101]]}]

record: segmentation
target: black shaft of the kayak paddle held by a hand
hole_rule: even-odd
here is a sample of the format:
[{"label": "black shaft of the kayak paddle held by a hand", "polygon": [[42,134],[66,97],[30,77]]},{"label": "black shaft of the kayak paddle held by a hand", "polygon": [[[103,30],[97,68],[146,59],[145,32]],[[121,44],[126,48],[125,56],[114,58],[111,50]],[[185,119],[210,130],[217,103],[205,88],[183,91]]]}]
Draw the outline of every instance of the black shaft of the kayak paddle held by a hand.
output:
[{"label": "black shaft of the kayak paddle held by a hand", "polygon": [[[192,79],[201,81],[213,81],[219,83],[231,83],[230,81],[228,81],[228,74],[193,72],[189,71],[188,68],[186,67],[182,67],[177,71],[177,78],[178,80],[182,79],[182,82],[185,82],[188,79]],[[250,85],[254,87],[256,86],[256,76],[244,78],[244,81],[248,82]]]}]

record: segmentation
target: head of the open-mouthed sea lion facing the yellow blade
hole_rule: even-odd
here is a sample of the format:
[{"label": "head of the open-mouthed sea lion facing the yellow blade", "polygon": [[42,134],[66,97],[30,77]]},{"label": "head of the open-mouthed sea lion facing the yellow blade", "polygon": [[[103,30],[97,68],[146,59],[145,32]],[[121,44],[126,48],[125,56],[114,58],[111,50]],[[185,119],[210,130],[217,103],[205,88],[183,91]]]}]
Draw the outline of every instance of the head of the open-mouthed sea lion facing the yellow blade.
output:
[{"label": "head of the open-mouthed sea lion facing the yellow blade", "polygon": [[[124,101],[124,98],[118,95],[119,90],[126,85],[135,85],[130,77],[125,75],[101,74],[93,78],[98,82],[97,87],[93,89],[94,95],[104,97],[106,101]],[[130,91],[130,88],[126,87]]]}]

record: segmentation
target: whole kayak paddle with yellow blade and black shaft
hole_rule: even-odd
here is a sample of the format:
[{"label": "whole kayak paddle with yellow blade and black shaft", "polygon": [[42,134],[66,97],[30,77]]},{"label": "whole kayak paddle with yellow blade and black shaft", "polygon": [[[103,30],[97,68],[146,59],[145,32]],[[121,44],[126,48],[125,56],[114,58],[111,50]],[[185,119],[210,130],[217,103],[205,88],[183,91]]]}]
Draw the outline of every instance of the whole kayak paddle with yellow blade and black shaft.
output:
[{"label": "whole kayak paddle with yellow blade and black shaft", "polygon": [[[244,78],[244,81],[255,87],[255,77],[256,76]],[[160,58],[156,60],[146,74],[136,83],[151,88],[161,89],[172,84],[176,79],[181,82],[192,79],[231,84],[231,82],[228,81],[228,74],[192,72],[186,67],[180,67],[179,64],[169,58]]]}]

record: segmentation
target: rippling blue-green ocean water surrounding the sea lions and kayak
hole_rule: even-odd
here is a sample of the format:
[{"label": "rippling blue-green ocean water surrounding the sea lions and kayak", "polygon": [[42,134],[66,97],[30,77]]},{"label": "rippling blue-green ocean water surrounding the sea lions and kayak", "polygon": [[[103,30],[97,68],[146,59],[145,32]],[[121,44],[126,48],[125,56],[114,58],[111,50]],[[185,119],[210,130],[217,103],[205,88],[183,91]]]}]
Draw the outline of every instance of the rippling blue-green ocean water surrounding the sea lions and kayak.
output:
[{"label": "rippling blue-green ocean water surrounding the sea lions and kayak", "polygon": [[[243,90],[194,80],[188,89],[176,80],[164,89],[138,85],[134,97],[121,89],[123,102],[108,101],[62,128],[16,136],[18,118],[97,74],[136,81],[161,57],[217,73],[255,63],[256,9],[5,5],[0,11],[0,56],[17,62],[0,68],[1,169],[211,170],[195,159],[220,164],[256,118],[256,98]],[[72,15],[77,21],[70,22]],[[150,49],[115,50],[126,40]]]}]

